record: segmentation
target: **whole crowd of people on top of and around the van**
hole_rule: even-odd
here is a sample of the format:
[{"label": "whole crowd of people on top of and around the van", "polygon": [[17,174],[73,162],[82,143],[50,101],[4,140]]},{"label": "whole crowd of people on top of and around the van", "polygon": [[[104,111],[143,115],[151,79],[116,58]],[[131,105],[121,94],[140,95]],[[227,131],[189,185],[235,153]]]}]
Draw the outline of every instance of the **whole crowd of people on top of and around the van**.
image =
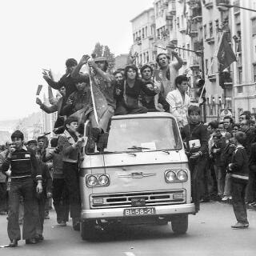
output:
[{"label": "whole crowd of people on top of and around the van", "polygon": [[[86,144],[86,150],[102,153],[113,115],[149,111],[170,112],[177,119],[186,142],[195,210],[199,210],[200,201],[209,200],[216,191],[223,202],[232,197],[238,220],[233,227],[248,227],[244,198],[256,205],[255,122],[250,113],[242,114],[239,124],[234,124],[232,118],[203,124],[200,108],[190,106],[186,94],[189,79],[185,74],[178,75],[182,58],[171,51],[158,54],[156,62],[158,76],[152,66],[144,65],[139,70],[133,63],[110,74],[106,58],[91,59],[89,55],[82,56],[80,62],[68,59],[66,74],[58,82],[50,71],[43,71],[49,90],[58,90],[59,94],[50,99],[50,106],[39,98],[36,103],[46,113],[57,112],[56,138],[50,140],[49,147],[46,135],[24,142],[24,135],[16,130],[0,154],[0,214],[8,212],[10,246],[18,246],[21,239],[21,205],[24,206],[22,238],[26,244],[43,240],[49,198],[53,199],[58,224],[66,226],[70,215],[74,230],[79,230],[78,173],[84,157],[82,146]],[[85,65],[86,72],[82,73]],[[86,130],[85,123],[89,123]],[[86,142],[83,134],[88,138]]]}]

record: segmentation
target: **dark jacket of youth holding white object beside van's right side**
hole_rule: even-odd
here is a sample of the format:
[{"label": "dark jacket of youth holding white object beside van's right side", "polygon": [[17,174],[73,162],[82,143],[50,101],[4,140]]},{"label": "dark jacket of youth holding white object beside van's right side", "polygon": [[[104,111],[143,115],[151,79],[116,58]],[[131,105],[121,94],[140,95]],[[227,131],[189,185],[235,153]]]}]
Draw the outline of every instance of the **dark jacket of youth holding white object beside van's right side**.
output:
[{"label": "dark jacket of youth holding white object beside van's right side", "polygon": [[182,128],[182,139],[186,140],[187,150],[190,152],[190,141],[198,139],[200,141],[200,148],[197,149],[202,155],[208,155],[208,133],[207,128],[201,122],[197,124],[187,124]]}]

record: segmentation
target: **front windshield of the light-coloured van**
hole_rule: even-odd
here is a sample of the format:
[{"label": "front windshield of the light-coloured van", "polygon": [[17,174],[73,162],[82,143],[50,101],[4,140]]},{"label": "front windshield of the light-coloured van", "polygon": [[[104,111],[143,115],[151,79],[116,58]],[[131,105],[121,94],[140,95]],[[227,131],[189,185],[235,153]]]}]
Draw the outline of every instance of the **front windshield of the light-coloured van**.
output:
[{"label": "front windshield of the light-coloured van", "polygon": [[174,118],[133,118],[111,121],[106,152],[181,150]]}]

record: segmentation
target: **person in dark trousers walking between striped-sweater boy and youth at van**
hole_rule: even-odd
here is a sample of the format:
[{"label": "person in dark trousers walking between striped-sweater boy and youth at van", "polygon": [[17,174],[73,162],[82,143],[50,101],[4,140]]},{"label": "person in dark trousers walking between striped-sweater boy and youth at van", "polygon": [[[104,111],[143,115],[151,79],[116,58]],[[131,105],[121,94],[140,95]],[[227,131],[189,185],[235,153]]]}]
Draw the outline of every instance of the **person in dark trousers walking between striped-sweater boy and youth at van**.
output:
[{"label": "person in dark trousers walking between striped-sweater boy and youth at van", "polygon": [[66,226],[69,221],[70,200],[63,174],[63,156],[58,150],[58,138],[50,140],[51,150],[42,156],[42,161],[53,160],[53,200],[54,209],[57,214],[57,222],[60,226]]}]

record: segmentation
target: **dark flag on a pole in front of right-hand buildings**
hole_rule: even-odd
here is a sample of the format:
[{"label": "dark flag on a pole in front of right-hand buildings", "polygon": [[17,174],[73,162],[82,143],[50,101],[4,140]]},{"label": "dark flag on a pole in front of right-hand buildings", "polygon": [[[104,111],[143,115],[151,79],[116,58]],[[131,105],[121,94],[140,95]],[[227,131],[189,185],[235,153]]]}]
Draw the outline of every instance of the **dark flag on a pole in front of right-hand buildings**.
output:
[{"label": "dark flag on a pole in front of right-hand buildings", "polygon": [[234,51],[232,50],[229,42],[226,38],[226,33],[224,32],[218,42],[216,54],[219,62],[219,70],[222,72],[225,70],[232,62],[236,62]]}]

